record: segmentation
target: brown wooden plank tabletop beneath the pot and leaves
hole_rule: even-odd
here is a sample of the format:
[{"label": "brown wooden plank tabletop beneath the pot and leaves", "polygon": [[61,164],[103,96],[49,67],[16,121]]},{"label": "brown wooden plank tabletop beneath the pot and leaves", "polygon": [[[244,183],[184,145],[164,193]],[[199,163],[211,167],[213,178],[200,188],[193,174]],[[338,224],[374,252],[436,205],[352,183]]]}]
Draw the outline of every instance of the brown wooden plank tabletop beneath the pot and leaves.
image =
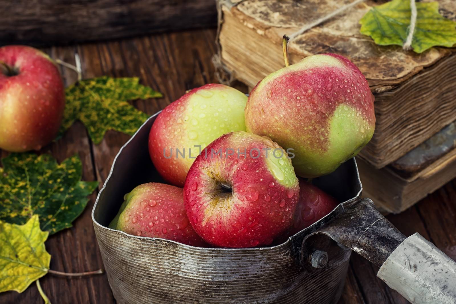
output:
[{"label": "brown wooden plank tabletop beneath the pot and leaves", "polygon": [[[214,29],[144,36],[96,44],[52,47],[45,51],[53,58],[74,64],[78,52],[83,77],[109,75],[138,76],[141,82],[164,94],[164,98],[135,101],[140,110],[153,114],[179,98],[187,89],[217,82],[211,57],[216,52]],[[254,54],[253,54],[254,56]],[[76,81],[77,75],[61,67],[66,85]],[[246,89],[239,85],[240,89]],[[83,161],[83,180],[98,180],[99,188],[107,178],[114,156],[129,139],[128,135],[109,131],[101,144],[88,138],[81,123],[76,123],[63,139],[43,148],[60,162],[78,153]],[[7,155],[0,151],[1,156]],[[98,191],[96,191],[98,192]],[[103,268],[98,244],[93,231],[91,211],[97,193],[83,214],[70,229],[49,238],[46,247],[52,255],[51,268],[64,272],[82,272]],[[456,180],[435,191],[417,205],[388,219],[406,236],[419,232],[434,242],[451,258],[456,259]],[[347,282],[339,304],[408,303],[376,278],[378,268],[352,254]],[[48,274],[40,279],[44,292],[52,303],[76,304],[115,303],[106,274],[85,278],[61,278]],[[32,284],[25,292],[0,294],[0,303],[43,303]]]}]

